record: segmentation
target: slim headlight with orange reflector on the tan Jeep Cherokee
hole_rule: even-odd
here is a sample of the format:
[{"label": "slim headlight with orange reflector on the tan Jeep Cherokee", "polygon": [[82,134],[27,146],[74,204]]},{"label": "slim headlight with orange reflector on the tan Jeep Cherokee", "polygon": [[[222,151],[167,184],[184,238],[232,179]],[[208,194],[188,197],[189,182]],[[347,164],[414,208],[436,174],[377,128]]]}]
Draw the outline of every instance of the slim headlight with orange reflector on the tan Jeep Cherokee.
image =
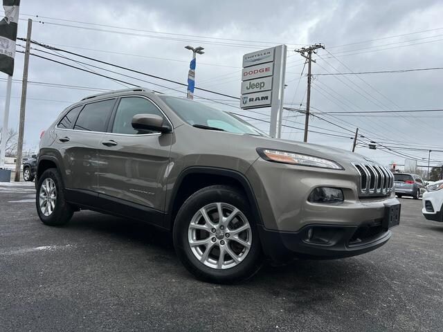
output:
[{"label": "slim headlight with orange reflector on the tan Jeep Cherokee", "polygon": [[307,154],[296,154],[294,152],[271,150],[271,149],[257,149],[258,154],[264,160],[273,161],[275,163],[284,163],[309,167],[321,167],[329,169],[344,169],[335,161],[318,158],[315,156],[308,156]]}]

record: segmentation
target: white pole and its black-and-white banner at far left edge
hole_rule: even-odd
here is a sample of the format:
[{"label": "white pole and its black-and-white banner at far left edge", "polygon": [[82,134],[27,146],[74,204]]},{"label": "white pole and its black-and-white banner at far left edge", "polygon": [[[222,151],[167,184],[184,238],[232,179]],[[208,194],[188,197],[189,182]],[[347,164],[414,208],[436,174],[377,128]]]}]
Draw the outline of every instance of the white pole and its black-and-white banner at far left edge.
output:
[{"label": "white pole and its black-and-white banner at far left edge", "polygon": [[5,166],[12,74],[14,73],[15,40],[17,39],[17,24],[19,21],[19,4],[20,0],[3,0],[5,17],[0,21],[0,71],[8,74],[5,109],[3,113],[3,129],[1,131],[0,168]]}]

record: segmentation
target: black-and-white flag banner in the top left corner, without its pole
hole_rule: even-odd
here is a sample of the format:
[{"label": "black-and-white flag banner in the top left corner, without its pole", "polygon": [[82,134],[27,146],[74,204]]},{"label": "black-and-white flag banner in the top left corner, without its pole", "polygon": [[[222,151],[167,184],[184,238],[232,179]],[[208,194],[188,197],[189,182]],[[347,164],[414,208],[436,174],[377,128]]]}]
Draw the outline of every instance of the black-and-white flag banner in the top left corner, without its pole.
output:
[{"label": "black-and-white flag banner in the top left corner, without its pole", "polygon": [[5,17],[0,21],[0,71],[10,76],[14,73],[19,5],[20,0],[3,0]]}]

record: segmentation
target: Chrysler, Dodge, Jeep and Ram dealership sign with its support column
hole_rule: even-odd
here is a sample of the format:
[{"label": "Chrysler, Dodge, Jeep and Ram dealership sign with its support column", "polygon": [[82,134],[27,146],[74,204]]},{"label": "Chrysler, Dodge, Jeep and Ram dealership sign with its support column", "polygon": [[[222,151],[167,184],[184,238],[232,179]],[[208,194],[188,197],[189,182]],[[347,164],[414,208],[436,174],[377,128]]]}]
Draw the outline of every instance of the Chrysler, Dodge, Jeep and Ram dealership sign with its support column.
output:
[{"label": "Chrysler, Dodge, Jeep and Ram dealership sign with its support column", "polygon": [[271,107],[269,135],[280,138],[287,46],[243,55],[242,109]]}]

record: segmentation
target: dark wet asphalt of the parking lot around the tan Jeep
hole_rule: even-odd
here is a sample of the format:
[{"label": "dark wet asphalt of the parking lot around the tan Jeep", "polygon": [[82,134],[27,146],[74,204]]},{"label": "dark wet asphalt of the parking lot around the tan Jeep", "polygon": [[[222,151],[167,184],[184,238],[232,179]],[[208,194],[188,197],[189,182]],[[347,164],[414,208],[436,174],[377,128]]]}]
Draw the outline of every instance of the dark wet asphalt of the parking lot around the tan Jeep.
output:
[{"label": "dark wet asphalt of the parking lot around the tan Jeep", "polygon": [[43,225],[33,183],[0,183],[0,331],[442,331],[443,223],[400,199],[368,254],[266,264],[249,282],[195,280],[170,235],[82,211]]}]

